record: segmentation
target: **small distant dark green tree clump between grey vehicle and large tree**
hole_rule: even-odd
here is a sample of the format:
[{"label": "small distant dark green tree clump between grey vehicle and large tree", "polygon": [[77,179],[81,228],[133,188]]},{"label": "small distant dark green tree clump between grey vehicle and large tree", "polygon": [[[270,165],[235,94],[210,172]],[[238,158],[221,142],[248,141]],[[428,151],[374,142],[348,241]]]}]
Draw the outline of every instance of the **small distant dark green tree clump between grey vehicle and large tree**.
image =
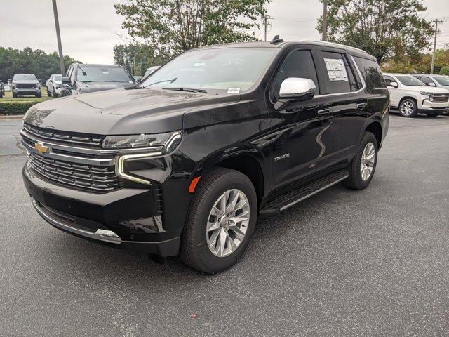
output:
[{"label": "small distant dark green tree clump between grey vehicle and large tree", "polygon": [[117,44],[114,46],[114,63],[128,68],[131,74],[142,76],[152,65],[162,65],[168,55],[159,55],[147,44]]}]

